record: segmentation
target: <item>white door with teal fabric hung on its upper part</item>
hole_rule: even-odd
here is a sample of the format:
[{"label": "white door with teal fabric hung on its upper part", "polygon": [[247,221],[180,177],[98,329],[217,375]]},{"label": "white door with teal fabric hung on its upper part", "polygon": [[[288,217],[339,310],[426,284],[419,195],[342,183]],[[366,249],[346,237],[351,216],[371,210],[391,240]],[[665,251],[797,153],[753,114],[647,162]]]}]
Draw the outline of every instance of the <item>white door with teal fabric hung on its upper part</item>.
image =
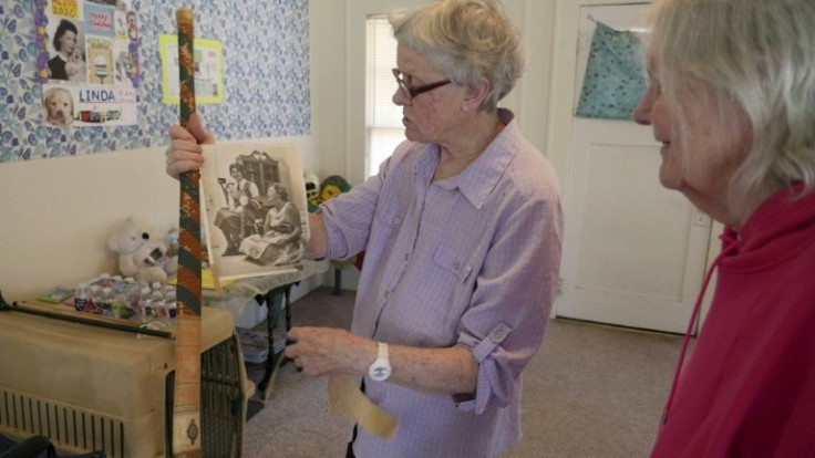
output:
[{"label": "white door with teal fabric hung on its upper part", "polygon": [[704,275],[710,219],[660,186],[650,127],[574,116],[595,21],[630,29],[643,8],[558,3],[549,152],[564,180],[566,232],[556,314],[683,332]]}]

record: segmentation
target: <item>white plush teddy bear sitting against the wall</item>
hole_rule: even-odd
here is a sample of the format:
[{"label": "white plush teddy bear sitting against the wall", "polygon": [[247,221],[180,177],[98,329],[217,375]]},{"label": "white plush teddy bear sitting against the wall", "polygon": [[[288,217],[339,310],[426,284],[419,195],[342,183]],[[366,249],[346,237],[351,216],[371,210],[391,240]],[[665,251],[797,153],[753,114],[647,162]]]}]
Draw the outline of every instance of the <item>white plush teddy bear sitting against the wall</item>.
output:
[{"label": "white plush teddy bear sitting against the wall", "polygon": [[177,260],[167,257],[167,247],[151,240],[149,232],[133,218],[116,225],[107,238],[107,248],[118,254],[118,270],[138,282],[165,282],[175,274]]}]

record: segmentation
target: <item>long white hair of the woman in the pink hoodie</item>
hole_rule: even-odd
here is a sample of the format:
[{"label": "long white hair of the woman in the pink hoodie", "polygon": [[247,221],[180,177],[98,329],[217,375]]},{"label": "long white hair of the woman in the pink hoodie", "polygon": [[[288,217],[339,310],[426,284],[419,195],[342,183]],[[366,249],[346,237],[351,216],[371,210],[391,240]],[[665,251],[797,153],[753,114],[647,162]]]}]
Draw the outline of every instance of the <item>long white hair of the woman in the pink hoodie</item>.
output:
[{"label": "long white hair of the woman in the pink hoodie", "polygon": [[[768,191],[815,187],[815,1],[654,0],[647,56],[669,104],[710,104],[719,123],[733,103],[750,121],[751,147],[729,183],[742,220]],[[680,135],[688,119],[675,110]],[[731,112],[731,113],[729,113]]]}]

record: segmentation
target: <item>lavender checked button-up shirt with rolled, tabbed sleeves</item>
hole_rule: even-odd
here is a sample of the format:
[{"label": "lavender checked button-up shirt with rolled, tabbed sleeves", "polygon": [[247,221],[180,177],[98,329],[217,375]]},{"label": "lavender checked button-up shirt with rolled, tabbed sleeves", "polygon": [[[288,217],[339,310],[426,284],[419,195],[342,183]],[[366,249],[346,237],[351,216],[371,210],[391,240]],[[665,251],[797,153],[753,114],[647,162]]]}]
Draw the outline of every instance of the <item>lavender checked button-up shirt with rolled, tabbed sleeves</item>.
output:
[{"label": "lavender checked button-up shirt with rolled, tabbed sleeves", "polygon": [[365,250],[352,331],[376,341],[463,345],[479,363],[473,399],[365,381],[395,414],[393,440],[360,430],[354,452],[495,456],[520,439],[520,372],[544,337],[557,288],[557,177],[502,110],[506,128],[455,177],[432,181],[440,149],[404,142],[378,175],[322,207],[331,259]]}]

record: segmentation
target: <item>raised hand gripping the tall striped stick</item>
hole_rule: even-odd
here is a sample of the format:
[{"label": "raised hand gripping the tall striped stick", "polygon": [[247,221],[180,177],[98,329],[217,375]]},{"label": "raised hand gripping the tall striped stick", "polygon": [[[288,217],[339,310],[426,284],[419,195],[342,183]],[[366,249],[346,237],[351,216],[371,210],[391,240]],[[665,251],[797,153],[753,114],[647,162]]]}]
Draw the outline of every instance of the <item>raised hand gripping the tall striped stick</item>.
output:
[{"label": "raised hand gripping the tall striped stick", "polygon": [[179,125],[169,126],[169,146],[165,153],[167,174],[173,178],[178,178],[185,171],[199,169],[204,164],[200,145],[214,143],[215,136],[204,128],[198,113],[189,116],[187,128]]}]

